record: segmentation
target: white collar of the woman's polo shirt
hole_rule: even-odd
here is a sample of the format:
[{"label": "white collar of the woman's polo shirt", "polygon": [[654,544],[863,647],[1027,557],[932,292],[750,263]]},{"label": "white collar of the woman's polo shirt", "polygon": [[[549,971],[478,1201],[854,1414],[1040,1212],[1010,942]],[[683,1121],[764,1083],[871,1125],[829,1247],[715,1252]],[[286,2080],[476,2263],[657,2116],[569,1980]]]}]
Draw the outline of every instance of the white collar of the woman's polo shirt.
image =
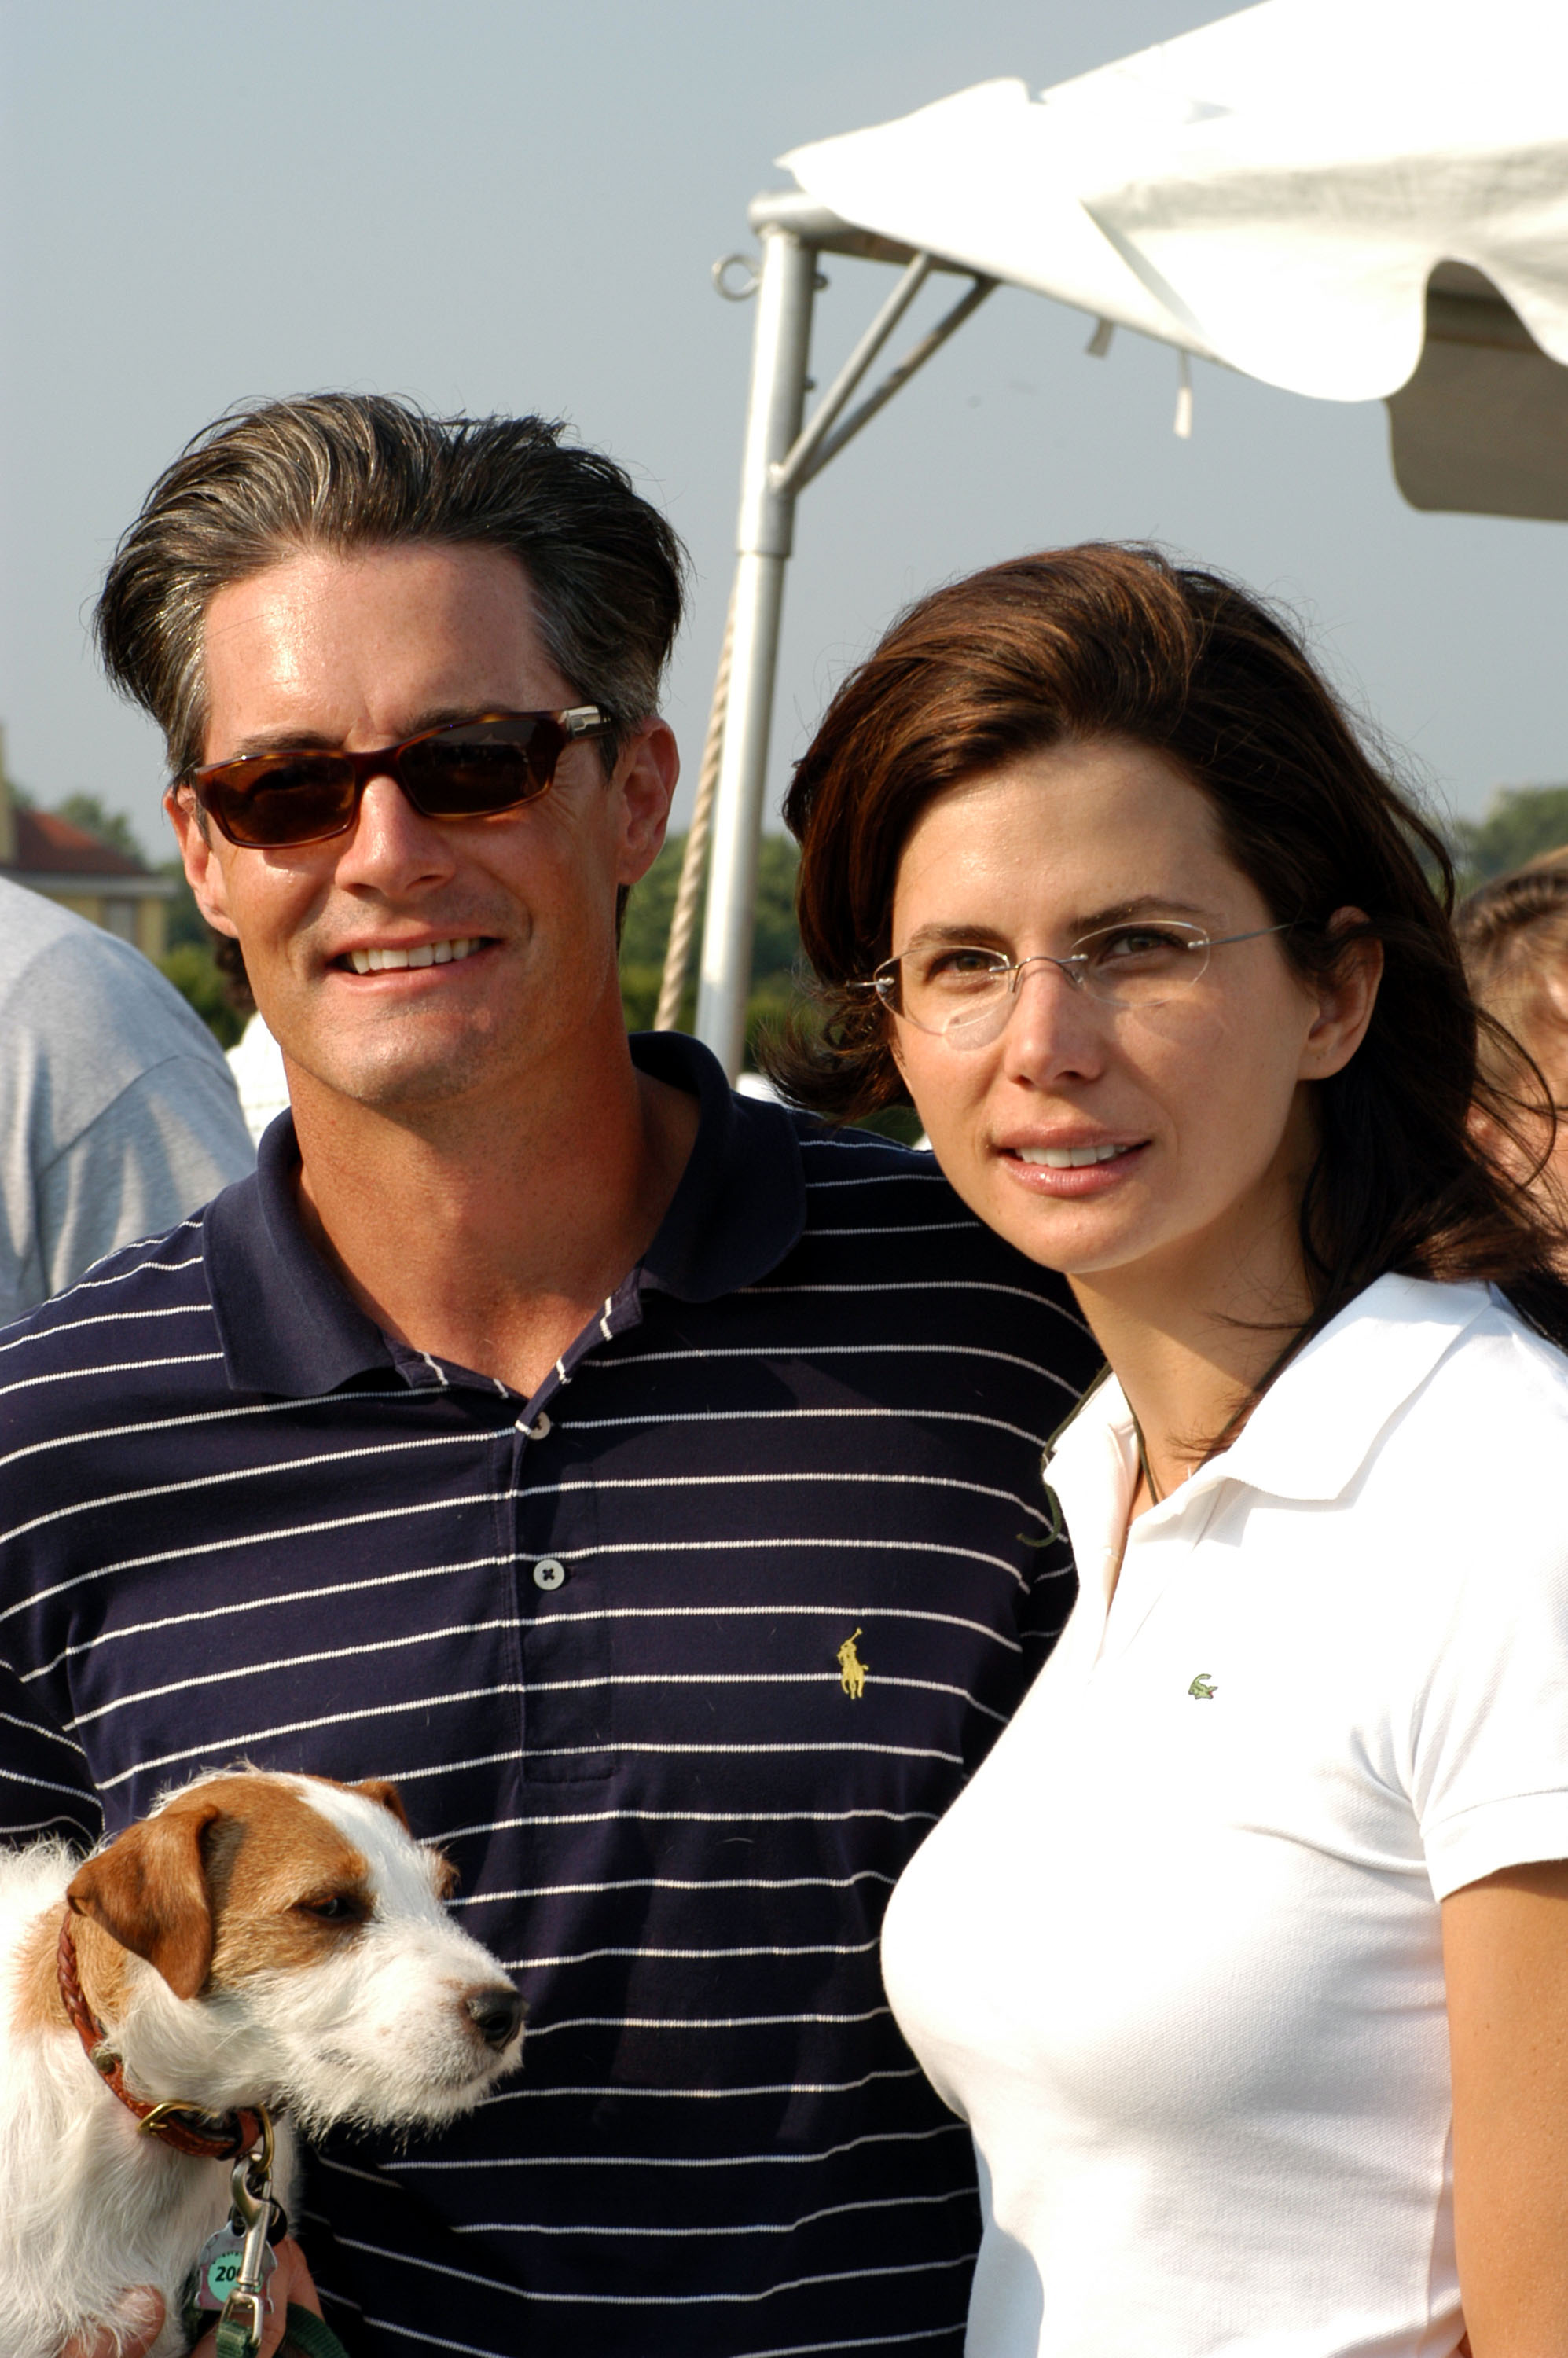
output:
[{"label": "white collar of the woman's polo shirt", "polygon": [[[1177,1523],[1221,1481],[1247,1483],[1271,1497],[1342,1497],[1379,1434],[1488,1306],[1485,1285],[1377,1278],[1269,1387],[1231,1448],[1139,1516],[1139,1530]],[[1122,1387],[1108,1377],[1085,1396],[1045,1467],[1075,1549],[1087,1554],[1103,1542],[1120,1554],[1134,1474],[1132,1410]]]}]

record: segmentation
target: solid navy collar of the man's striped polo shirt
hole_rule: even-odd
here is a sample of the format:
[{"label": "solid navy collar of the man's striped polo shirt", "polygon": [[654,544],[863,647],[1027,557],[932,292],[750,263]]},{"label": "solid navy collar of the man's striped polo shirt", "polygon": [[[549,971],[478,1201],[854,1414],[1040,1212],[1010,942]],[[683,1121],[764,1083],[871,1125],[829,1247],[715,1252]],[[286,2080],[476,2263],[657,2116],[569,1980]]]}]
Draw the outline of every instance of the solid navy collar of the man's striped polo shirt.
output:
[{"label": "solid navy collar of the man's striped polo shirt", "polygon": [[[776,1269],[806,1221],[795,1120],[736,1096],[714,1056],[684,1033],[634,1033],[632,1063],[698,1099],[698,1137],[641,1283],[714,1302]],[[408,1358],[321,1259],[299,1221],[292,1115],[269,1125],[248,1179],[203,1214],[203,1259],[236,1391],[314,1398]],[[415,1353],[417,1358],[417,1353]]]}]

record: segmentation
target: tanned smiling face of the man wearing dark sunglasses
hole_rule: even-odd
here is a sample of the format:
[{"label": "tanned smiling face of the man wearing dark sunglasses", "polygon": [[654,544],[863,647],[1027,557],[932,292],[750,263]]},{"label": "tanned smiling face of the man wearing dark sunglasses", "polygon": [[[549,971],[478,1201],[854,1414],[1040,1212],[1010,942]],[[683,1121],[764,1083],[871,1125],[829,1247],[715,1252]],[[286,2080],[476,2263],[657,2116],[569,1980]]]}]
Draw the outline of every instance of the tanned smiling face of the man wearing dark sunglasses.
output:
[{"label": "tanned smiling face of the man wearing dark sunglasses", "polygon": [[[580,698],[545,653],[516,559],[481,547],[309,549],[219,590],[205,625],[203,762],[396,745],[479,712]],[[285,851],[203,839],[172,806],[203,915],[236,934],[266,1026],[328,1094],[417,1115],[538,1078],[620,1021],[615,889],[653,863],[674,790],[663,722],[604,780],[568,745],[538,802],[422,818],[373,778],[349,835]],[[356,950],[450,948],[354,969]],[[467,946],[467,950],[465,950]],[[363,957],[361,957],[363,964]]]}]

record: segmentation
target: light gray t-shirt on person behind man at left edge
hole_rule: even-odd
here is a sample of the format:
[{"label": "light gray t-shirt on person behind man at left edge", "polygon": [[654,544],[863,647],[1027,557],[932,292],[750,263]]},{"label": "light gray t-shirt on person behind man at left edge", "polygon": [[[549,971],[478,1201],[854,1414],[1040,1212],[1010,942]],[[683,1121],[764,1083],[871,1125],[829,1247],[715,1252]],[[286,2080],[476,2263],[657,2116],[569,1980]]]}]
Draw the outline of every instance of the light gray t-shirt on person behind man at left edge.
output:
[{"label": "light gray t-shirt on person behind man at left edge", "polygon": [[224,1052],[172,983],[0,877],[0,1325],[252,1162]]}]

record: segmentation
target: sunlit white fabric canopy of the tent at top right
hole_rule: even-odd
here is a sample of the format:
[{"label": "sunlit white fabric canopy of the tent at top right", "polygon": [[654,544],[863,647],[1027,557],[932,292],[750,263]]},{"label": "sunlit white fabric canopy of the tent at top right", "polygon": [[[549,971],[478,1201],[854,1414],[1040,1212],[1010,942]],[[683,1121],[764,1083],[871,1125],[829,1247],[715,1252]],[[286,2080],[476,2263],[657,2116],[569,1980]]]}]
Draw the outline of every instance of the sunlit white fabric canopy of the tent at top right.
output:
[{"label": "sunlit white fabric canopy of the tent at top right", "polygon": [[1445,262],[1568,363],[1563,0],[1264,0],[780,163],[846,222],[1287,391],[1408,384]]}]

